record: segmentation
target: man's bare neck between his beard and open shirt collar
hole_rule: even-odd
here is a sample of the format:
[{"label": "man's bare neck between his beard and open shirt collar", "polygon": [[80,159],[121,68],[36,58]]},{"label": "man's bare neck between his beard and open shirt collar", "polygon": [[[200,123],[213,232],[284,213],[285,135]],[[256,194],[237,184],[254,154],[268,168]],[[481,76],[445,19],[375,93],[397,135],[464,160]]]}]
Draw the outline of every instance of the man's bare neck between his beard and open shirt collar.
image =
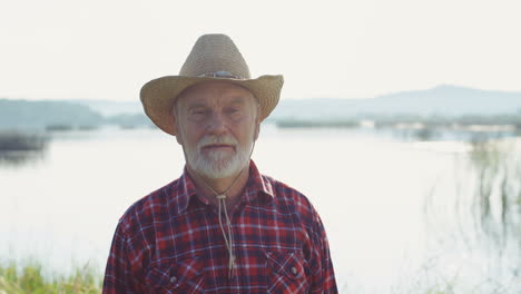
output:
[{"label": "man's bare neck between his beard and open shirt collar", "polygon": [[[208,199],[209,203],[217,206],[218,200],[216,196],[225,194],[226,207],[228,210],[232,210],[235,204],[239,200],[240,194],[244,187],[246,186],[249,177],[249,165],[243,168],[242,171],[238,171],[233,176],[226,178],[204,177],[203,175],[194,171],[188,165],[187,170],[191,179],[194,180],[197,194],[199,196]],[[212,187],[213,190],[208,186]]]}]

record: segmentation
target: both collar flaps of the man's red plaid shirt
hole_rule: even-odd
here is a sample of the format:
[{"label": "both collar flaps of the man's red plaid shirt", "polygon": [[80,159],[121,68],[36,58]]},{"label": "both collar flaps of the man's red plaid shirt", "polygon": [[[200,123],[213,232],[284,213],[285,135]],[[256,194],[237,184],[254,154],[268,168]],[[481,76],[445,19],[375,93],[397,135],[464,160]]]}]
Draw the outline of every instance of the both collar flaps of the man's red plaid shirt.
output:
[{"label": "both collar flaps of the man's red plaid shirt", "polygon": [[[188,208],[194,198],[197,198],[197,188],[185,166],[181,177],[179,178],[179,194],[177,195],[178,213],[183,213]],[[243,192],[243,198],[246,202],[256,199],[272,199],[274,197],[272,183],[263,176],[253,160],[249,160],[249,177],[246,187]]]}]

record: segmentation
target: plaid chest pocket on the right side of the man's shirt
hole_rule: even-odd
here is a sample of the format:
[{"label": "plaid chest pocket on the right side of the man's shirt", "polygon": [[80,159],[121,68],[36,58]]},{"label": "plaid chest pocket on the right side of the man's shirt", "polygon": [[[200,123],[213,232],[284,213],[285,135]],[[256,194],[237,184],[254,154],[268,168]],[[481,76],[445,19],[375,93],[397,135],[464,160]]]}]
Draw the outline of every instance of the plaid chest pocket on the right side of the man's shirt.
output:
[{"label": "plaid chest pocket on the right side of the man's shirt", "polygon": [[266,252],[267,293],[307,293],[306,261],[302,252]]}]

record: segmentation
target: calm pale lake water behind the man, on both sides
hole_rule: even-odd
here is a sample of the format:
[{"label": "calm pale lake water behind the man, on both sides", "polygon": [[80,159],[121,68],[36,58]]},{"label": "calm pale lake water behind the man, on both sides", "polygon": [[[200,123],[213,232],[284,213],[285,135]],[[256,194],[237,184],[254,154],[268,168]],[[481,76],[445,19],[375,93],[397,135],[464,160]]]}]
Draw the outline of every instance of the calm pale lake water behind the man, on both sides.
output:
[{"label": "calm pale lake water behind the man, on both sides", "polygon": [[[466,149],[266,125],[253,159],[262,173],[307,195],[321,214],[341,293],[415,293],[452,273],[472,288],[495,271],[492,257],[453,237],[450,216],[425,215],[426,197],[450,208]],[[0,258],[36,256],[57,272],[86,263],[102,271],[125,209],[183,167],[180,146],[154,129],[55,136],[43,157],[0,166]]]}]

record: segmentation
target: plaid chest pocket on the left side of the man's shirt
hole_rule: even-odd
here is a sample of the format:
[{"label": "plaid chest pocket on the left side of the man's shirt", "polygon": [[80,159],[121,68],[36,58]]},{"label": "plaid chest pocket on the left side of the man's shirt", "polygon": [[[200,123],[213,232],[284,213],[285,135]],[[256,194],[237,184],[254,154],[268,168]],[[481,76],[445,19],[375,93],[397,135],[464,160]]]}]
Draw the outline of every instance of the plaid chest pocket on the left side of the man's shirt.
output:
[{"label": "plaid chest pocket on the left side of the man's shirt", "polygon": [[160,262],[146,273],[150,293],[204,293],[204,264],[198,257],[178,262]]}]

